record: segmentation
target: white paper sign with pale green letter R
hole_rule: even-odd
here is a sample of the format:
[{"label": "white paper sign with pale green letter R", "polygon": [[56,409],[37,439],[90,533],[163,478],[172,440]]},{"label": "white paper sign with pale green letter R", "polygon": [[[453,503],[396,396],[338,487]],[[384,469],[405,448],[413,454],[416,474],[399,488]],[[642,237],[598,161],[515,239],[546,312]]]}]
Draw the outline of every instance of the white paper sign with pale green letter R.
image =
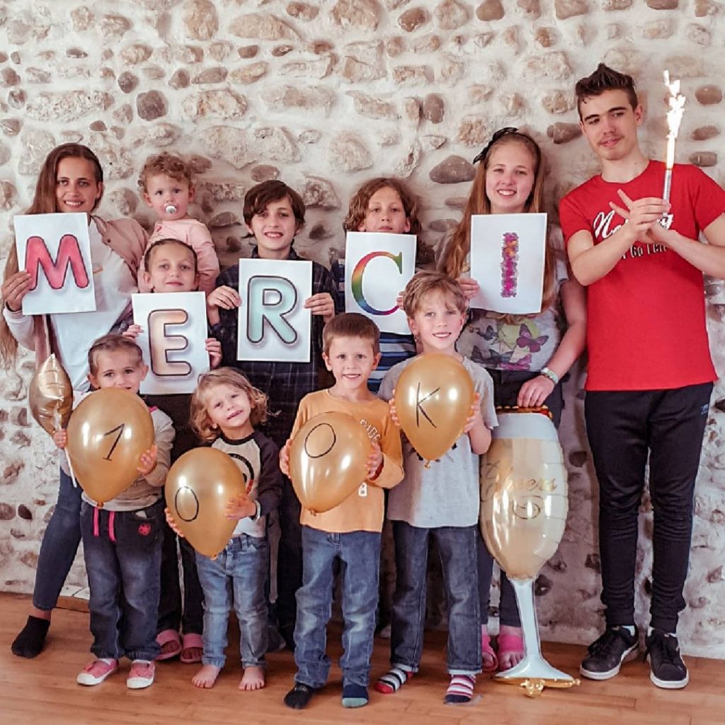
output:
[{"label": "white paper sign with pale green letter R", "polygon": [[309,363],[312,262],[239,260],[237,360]]}]

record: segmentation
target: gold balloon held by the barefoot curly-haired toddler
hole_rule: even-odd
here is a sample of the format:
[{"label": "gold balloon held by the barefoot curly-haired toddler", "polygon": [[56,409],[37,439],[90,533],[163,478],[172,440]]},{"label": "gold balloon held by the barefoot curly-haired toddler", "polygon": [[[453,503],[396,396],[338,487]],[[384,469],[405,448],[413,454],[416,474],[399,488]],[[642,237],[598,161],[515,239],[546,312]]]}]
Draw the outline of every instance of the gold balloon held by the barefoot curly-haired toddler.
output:
[{"label": "gold balloon held by the barefoot curly-haired toddler", "polygon": [[239,466],[216,448],[187,451],[166,476],[166,505],[176,526],[196,551],[212,558],[239,523],[226,518],[226,505],[244,492]]}]

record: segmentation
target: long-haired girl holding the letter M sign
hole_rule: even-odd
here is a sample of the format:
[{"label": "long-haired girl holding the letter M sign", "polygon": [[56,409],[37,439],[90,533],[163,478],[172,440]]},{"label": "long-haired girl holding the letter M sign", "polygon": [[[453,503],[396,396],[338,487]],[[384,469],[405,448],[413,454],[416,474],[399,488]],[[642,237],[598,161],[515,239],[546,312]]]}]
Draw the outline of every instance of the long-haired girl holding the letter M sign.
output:
[{"label": "long-haired girl holding the letter M sign", "polygon": [[[103,169],[96,154],[81,144],[62,144],[43,162],[33,203],[25,212],[86,213],[96,289],[94,312],[23,315],[30,274],[18,270],[14,245],[9,249],[1,291],[1,362],[14,365],[18,344],[35,351],[36,367],[55,353],[73,388],[80,392],[88,390],[88,348],[99,333],[117,331],[130,314],[130,297],[137,291],[136,273],[148,241],[133,219],[104,220],[94,213],[103,190]],[[57,502],[38,555],[33,606],[12,643],[14,655],[36,657],[43,649],[51,614],[80,542],[79,512],[80,491],[61,471]]]}]

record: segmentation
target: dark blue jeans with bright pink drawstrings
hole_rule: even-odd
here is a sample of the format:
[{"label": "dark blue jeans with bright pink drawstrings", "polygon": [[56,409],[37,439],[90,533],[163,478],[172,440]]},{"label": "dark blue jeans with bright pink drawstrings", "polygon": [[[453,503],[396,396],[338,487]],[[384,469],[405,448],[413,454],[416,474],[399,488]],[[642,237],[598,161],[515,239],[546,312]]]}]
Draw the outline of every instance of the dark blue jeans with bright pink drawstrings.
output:
[{"label": "dark blue jeans with bright pink drawstrings", "polygon": [[153,660],[161,651],[156,618],[163,523],[163,500],[137,511],[81,505],[96,657]]}]

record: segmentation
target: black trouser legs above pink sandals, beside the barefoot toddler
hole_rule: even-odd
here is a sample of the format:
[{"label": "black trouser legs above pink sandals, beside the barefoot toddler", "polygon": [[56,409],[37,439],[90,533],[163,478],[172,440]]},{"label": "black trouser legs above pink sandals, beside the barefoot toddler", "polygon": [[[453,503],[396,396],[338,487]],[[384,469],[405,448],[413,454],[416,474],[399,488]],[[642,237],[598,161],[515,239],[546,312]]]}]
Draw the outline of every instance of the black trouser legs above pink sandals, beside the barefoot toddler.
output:
[{"label": "black trouser legs above pink sandals, beside the barefoot toddler", "polygon": [[[183,597],[179,581],[179,558],[176,542],[181,552]],[[161,595],[157,631],[165,629],[183,634],[202,634],[204,594],[196,573],[196,552],[186,539],[177,537],[164,523],[164,540],[161,550]]]}]

